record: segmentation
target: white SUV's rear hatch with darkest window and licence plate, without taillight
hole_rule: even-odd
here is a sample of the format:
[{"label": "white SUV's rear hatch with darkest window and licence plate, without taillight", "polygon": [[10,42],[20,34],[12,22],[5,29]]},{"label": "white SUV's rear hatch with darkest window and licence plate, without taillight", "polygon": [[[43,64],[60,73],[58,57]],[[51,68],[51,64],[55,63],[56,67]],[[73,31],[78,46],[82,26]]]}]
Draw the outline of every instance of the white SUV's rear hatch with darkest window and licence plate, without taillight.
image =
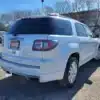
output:
[{"label": "white SUV's rear hatch with darkest window and licence plate, without taillight", "polygon": [[17,21],[4,37],[3,57],[13,62],[22,62],[19,58],[42,59],[42,51],[33,50],[33,45],[36,40],[47,40],[52,34],[53,25],[50,23],[51,18],[48,17]]}]

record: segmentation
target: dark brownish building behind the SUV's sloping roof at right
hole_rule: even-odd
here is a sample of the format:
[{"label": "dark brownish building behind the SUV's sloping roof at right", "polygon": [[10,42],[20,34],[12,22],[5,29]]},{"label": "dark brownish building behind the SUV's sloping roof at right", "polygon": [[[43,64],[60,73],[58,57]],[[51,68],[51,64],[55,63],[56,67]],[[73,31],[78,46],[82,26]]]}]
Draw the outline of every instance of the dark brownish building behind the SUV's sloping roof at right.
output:
[{"label": "dark brownish building behind the SUV's sloping roof at right", "polygon": [[68,14],[64,13],[62,15],[87,24],[95,35],[100,35],[100,11],[98,9]]}]

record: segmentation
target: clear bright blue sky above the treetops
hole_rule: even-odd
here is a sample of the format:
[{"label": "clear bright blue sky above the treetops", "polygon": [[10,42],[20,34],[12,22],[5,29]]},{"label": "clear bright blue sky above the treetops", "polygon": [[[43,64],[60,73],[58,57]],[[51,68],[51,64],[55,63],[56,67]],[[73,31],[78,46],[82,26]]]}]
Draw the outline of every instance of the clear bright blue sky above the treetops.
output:
[{"label": "clear bright blue sky above the treetops", "polygon": [[[65,0],[44,0],[45,5],[52,6],[56,1]],[[41,0],[0,0],[0,12],[11,12],[14,10],[34,10],[41,7]]]}]

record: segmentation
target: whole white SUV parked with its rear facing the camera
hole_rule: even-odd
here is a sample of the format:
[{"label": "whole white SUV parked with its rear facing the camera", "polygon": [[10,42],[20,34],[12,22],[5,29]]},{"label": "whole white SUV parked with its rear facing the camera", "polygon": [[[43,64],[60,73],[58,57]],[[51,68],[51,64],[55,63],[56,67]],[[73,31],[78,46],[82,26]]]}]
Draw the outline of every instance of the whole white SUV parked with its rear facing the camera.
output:
[{"label": "whole white SUV parked with its rear facing the camera", "polygon": [[18,20],[4,34],[0,65],[12,75],[58,80],[73,86],[79,66],[96,55],[98,42],[89,28],[71,18],[43,16]]}]

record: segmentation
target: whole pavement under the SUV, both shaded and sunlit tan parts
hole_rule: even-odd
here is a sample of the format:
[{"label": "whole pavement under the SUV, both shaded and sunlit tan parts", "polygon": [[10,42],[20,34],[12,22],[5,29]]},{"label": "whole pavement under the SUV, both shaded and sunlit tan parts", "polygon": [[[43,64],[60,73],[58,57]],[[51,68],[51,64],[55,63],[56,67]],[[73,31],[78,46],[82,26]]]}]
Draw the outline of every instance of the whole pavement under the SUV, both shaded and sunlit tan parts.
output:
[{"label": "whole pavement under the SUV, both shaded and sunlit tan parts", "polygon": [[12,77],[0,70],[0,100],[100,100],[100,61],[90,61],[80,68],[72,89],[56,82],[40,84],[37,80]]}]

